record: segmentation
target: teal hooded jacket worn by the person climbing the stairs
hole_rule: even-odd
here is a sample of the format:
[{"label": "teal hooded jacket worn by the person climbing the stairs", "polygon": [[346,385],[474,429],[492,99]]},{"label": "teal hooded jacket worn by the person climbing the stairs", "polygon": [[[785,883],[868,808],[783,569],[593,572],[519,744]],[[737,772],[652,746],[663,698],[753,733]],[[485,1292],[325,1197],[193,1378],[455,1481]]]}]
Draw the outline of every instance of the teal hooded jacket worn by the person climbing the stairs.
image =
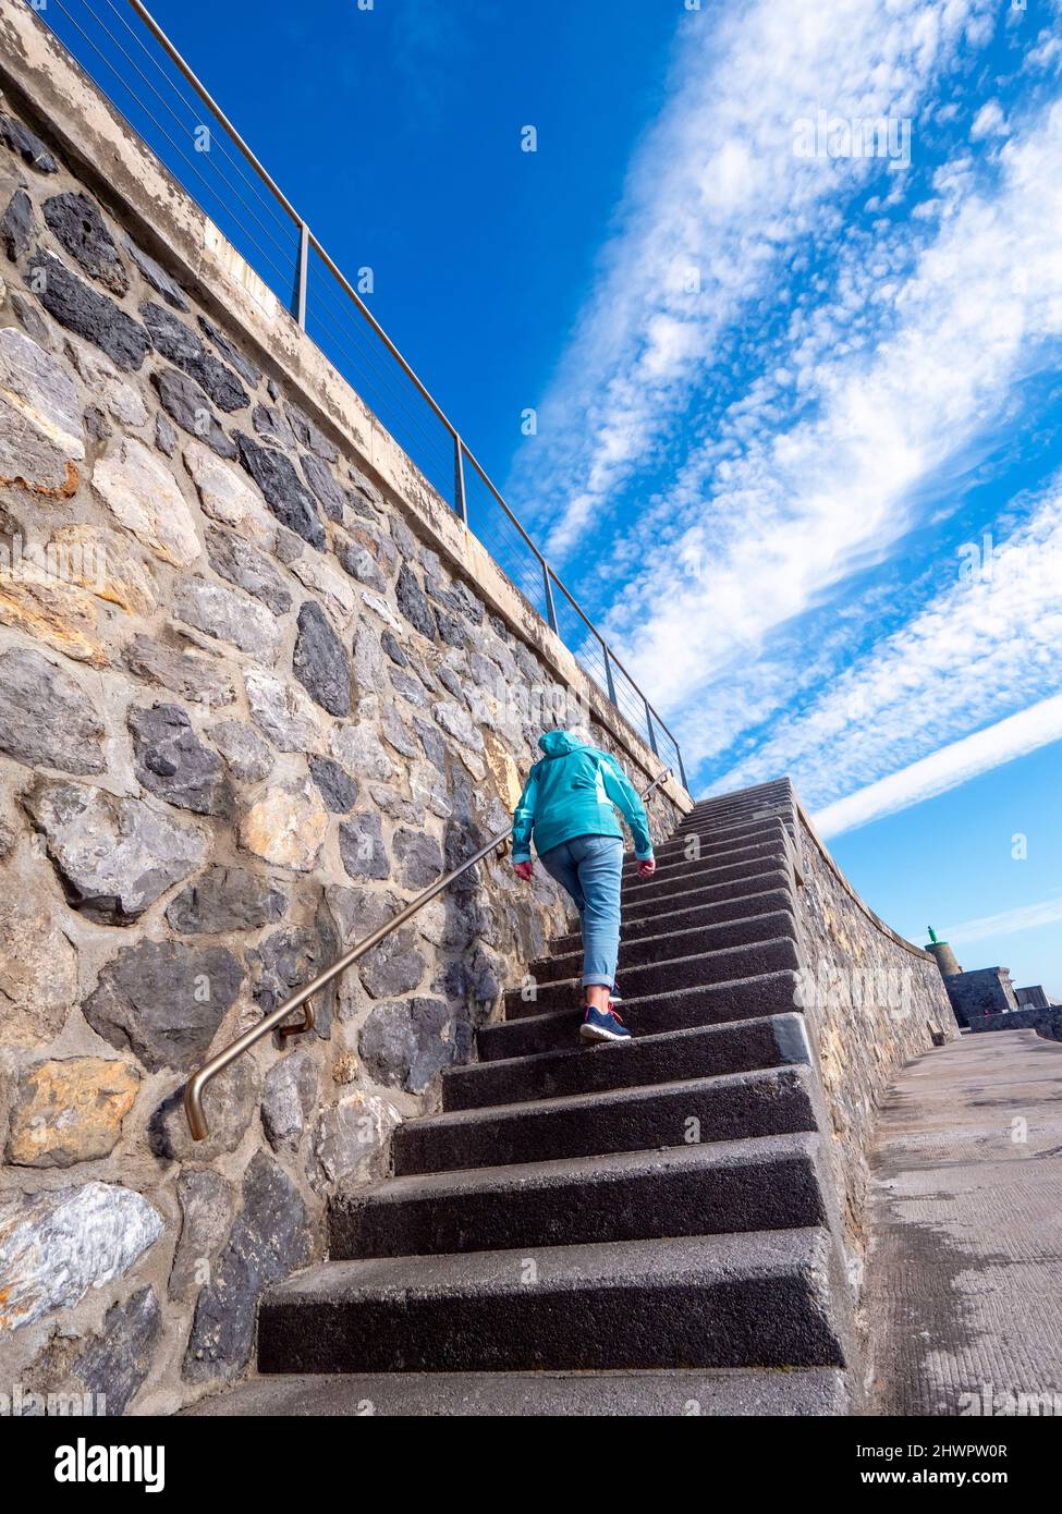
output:
[{"label": "teal hooded jacket worn by the person climbing the stairs", "polygon": [[545,755],[532,768],[512,816],[512,860],[530,861],[532,836],[539,854],[573,836],[623,836],[617,804],[635,837],[635,857],[647,861],[653,840],[645,805],[615,757],[571,731],[547,731],[538,745]]}]

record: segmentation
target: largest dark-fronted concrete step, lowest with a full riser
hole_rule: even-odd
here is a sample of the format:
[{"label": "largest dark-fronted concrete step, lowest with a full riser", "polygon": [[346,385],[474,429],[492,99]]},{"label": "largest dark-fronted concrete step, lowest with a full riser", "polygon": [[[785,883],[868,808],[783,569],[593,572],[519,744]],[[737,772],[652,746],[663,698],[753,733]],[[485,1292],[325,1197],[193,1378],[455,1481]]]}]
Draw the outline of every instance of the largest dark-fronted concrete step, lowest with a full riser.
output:
[{"label": "largest dark-fronted concrete step, lowest with a full riser", "polygon": [[839,1367],[823,1228],[332,1261],[270,1288],[261,1372]]}]

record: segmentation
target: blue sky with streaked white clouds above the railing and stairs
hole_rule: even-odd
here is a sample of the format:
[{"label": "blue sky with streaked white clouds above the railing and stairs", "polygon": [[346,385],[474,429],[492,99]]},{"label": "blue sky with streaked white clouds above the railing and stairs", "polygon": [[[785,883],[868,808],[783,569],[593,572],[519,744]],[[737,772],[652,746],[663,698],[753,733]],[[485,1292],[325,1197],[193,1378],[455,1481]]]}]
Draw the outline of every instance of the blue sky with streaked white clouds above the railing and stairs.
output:
[{"label": "blue sky with streaked white clouds above the railing and stairs", "polygon": [[1062,999],[1059,6],[153,9],[697,792]]}]

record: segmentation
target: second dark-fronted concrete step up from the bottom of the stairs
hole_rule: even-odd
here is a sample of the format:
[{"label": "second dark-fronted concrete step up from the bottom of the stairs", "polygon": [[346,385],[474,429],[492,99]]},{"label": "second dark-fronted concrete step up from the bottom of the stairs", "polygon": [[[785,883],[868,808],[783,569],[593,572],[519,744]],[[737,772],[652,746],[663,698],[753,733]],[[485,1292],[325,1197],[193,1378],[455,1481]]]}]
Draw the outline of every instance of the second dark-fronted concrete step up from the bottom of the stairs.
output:
[{"label": "second dark-fronted concrete step up from the bottom of the stairs", "polygon": [[333,1199],[329,1257],[420,1257],[826,1225],[818,1134],[389,1178]]}]

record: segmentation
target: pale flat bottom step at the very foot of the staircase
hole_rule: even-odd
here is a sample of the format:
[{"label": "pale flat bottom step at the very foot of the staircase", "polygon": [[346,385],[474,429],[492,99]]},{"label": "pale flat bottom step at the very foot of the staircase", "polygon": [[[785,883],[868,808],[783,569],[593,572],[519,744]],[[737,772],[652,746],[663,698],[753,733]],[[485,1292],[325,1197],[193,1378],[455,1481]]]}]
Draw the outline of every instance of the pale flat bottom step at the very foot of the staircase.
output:
[{"label": "pale flat bottom step at the very foot of the staircase", "polygon": [[183,1414],[230,1419],[814,1419],[848,1413],[838,1367],[642,1372],[362,1372],[241,1382]]}]

